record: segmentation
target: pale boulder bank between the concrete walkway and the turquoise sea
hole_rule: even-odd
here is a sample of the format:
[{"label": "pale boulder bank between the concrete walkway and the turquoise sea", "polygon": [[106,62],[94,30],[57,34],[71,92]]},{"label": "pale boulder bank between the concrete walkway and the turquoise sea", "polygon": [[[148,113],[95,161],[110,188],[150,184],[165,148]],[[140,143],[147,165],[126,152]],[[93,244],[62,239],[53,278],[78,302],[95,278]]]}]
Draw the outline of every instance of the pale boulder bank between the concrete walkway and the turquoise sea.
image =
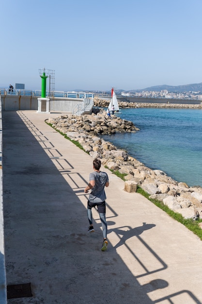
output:
[{"label": "pale boulder bank between the concrete walkway and the turquoise sea", "polygon": [[152,170],[140,161],[103,140],[102,134],[114,132],[136,132],[138,129],[130,121],[112,116],[106,111],[97,115],[64,115],[48,118],[47,123],[80,143],[93,159],[99,158],[103,166],[125,174],[125,180],[135,181],[150,198],[157,199],[184,218],[202,219],[202,187],[189,187],[177,182],[161,170]]}]

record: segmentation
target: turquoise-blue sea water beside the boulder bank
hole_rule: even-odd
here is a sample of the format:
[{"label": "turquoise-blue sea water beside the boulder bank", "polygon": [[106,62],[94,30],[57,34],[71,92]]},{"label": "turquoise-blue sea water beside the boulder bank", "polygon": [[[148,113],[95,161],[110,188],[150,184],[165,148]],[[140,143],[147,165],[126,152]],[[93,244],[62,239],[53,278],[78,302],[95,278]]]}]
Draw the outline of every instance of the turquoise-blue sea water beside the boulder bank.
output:
[{"label": "turquoise-blue sea water beside the boulder bank", "polygon": [[188,186],[202,186],[202,110],[122,109],[140,131],[102,137],[151,169]]}]

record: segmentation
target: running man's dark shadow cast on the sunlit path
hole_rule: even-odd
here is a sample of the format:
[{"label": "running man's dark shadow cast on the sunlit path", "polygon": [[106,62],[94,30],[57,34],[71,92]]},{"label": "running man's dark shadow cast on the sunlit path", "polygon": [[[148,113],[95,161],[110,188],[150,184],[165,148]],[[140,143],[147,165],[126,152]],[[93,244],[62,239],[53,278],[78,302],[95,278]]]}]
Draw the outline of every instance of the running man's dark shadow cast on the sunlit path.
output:
[{"label": "running man's dark shadow cast on the sunlit path", "polygon": [[[108,225],[111,225],[112,223],[114,223],[114,222],[108,222]],[[118,227],[118,228],[109,229],[108,234],[111,232],[115,232],[117,235],[122,236],[120,241],[114,246],[114,248],[118,248],[121,245],[123,245],[125,243],[125,241],[127,239],[129,239],[130,237],[140,236],[140,234],[142,234],[142,232],[144,232],[145,230],[151,229],[153,227],[155,227],[155,224],[147,224],[147,223],[143,222],[142,226],[140,226],[140,227],[131,228],[130,226],[122,226],[122,227]],[[121,228],[128,228],[129,230],[124,231]]]}]

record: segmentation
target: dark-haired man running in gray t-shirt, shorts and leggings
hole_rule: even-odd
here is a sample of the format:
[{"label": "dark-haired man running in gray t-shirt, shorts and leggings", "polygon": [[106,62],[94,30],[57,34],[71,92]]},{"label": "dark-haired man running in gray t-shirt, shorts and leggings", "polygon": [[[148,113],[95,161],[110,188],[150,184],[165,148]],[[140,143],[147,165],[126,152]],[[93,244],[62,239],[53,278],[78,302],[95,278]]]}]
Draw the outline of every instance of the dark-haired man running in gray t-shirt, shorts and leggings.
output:
[{"label": "dark-haired man running in gray t-shirt, shorts and leggings", "polygon": [[90,173],[90,182],[88,186],[84,189],[85,193],[91,189],[89,194],[88,206],[87,206],[87,215],[90,223],[88,232],[94,232],[93,228],[93,217],[92,217],[92,208],[97,206],[100,220],[102,223],[102,232],[103,232],[103,244],[102,251],[107,250],[108,241],[107,241],[107,222],[106,222],[106,194],[105,187],[109,186],[109,178],[106,172],[100,171],[101,161],[99,159],[93,160],[93,172]]}]

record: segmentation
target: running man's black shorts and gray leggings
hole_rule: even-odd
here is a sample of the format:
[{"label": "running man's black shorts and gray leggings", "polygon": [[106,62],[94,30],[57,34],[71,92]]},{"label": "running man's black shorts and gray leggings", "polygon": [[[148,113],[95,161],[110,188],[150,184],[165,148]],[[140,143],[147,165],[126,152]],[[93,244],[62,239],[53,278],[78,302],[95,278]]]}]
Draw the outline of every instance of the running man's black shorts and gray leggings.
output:
[{"label": "running man's black shorts and gray leggings", "polygon": [[[105,202],[91,203],[90,201],[88,201],[87,215],[88,215],[88,220],[89,220],[90,225],[93,224],[93,216],[92,216],[92,210],[91,209],[95,206],[97,206],[98,212],[100,211],[99,209],[101,209],[101,211],[105,211]],[[106,222],[105,213],[99,212],[99,216],[100,216],[100,220],[101,220],[101,223],[102,223],[103,237],[107,238],[108,226],[107,226],[107,222]]]}]

